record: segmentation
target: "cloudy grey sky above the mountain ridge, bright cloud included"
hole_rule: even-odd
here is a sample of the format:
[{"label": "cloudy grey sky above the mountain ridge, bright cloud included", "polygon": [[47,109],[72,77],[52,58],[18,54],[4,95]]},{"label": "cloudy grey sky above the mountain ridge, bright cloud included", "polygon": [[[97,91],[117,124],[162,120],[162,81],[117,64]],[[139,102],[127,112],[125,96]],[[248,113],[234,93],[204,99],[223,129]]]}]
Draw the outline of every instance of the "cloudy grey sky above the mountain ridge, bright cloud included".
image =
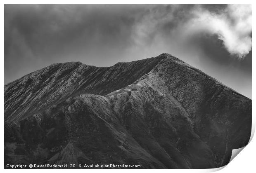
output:
[{"label": "cloudy grey sky above the mountain ridge, bright cloud included", "polygon": [[251,5],[5,5],[5,84],[169,53],[251,98]]}]

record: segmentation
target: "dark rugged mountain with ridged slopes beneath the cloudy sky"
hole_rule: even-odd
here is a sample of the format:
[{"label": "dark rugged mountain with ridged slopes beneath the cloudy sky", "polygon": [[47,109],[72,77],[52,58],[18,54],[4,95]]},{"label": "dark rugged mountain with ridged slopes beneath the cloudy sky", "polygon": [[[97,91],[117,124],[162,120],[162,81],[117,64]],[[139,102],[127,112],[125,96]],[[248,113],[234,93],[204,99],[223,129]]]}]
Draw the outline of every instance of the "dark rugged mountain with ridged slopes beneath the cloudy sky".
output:
[{"label": "dark rugged mountain with ridged slopes beneath the cloudy sky", "polygon": [[5,165],[216,168],[250,135],[251,100],[170,54],[5,85]]}]

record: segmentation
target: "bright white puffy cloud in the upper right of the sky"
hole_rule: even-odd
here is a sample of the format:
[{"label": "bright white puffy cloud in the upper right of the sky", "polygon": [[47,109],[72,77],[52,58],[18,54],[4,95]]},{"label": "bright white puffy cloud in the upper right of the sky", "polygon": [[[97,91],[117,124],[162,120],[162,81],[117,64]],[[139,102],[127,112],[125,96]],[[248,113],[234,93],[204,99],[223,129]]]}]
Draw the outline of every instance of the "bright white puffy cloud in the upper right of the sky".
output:
[{"label": "bright white puffy cloud in the upper right of the sky", "polygon": [[217,34],[228,52],[239,59],[251,50],[251,5],[228,5],[220,14],[198,6],[191,13],[194,17],[180,26],[187,36]]}]

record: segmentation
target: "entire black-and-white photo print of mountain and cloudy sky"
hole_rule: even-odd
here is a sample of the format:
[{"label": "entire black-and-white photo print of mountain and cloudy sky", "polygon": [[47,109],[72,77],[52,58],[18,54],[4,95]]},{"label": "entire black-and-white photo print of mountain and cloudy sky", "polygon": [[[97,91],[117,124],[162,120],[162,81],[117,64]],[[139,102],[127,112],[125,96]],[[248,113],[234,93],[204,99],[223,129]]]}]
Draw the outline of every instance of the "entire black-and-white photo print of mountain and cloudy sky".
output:
[{"label": "entire black-and-white photo print of mountain and cloudy sky", "polygon": [[243,5],[5,5],[5,168],[225,166],[251,136],[250,15]]}]

